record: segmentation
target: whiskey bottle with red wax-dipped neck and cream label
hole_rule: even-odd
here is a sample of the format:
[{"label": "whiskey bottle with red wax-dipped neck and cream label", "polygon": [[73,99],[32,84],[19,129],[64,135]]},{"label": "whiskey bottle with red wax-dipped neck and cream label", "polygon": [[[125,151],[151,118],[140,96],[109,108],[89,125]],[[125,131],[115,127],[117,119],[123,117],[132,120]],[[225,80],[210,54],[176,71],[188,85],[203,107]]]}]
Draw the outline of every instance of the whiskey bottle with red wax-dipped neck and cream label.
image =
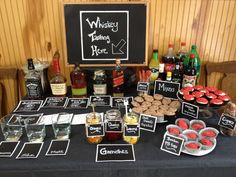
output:
[{"label": "whiskey bottle with red wax-dipped neck and cream label", "polygon": [[60,54],[56,51],[52,59],[54,76],[50,80],[50,87],[54,96],[65,96],[67,92],[66,78],[61,74],[59,60]]}]

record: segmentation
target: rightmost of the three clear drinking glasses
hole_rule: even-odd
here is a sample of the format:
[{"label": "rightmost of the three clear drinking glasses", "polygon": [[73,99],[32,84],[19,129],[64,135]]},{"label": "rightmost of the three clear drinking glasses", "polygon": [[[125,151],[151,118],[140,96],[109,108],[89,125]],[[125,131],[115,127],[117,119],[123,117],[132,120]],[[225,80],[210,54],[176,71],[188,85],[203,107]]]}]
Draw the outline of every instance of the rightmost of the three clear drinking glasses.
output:
[{"label": "rightmost of the three clear drinking glasses", "polygon": [[57,119],[52,120],[52,128],[56,139],[69,139],[73,114],[59,113]]}]

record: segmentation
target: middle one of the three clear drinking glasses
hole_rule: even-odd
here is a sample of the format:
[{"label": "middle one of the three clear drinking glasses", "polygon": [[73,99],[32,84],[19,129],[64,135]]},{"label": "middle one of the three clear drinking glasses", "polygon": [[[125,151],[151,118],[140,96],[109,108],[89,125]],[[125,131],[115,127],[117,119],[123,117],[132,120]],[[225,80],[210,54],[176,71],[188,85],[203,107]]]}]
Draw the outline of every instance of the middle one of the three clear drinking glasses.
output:
[{"label": "middle one of the three clear drinking glasses", "polygon": [[32,122],[31,119],[25,119],[25,131],[29,142],[43,142],[46,136],[45,124]]}]

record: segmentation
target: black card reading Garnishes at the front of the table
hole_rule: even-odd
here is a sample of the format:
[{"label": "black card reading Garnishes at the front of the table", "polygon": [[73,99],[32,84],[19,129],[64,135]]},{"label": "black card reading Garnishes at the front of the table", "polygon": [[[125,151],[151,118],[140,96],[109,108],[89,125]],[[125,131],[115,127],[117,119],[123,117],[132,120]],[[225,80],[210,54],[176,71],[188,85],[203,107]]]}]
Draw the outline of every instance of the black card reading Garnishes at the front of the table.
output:
[{"label": "black card reading Garnishes at the front of the table", "polygon": [[135,161],[132,144],[98,144],[96,162]]}]

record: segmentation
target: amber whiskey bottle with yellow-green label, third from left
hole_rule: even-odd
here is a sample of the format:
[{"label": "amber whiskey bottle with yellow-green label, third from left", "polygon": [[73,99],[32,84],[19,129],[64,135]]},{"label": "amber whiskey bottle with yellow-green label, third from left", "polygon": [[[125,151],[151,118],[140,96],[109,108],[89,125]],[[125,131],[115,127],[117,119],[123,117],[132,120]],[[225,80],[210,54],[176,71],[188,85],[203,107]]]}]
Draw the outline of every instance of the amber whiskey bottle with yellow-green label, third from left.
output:
[{"label": "amber whiskey bottle with yellow-green label, third from left", "polygon": [[75,64],[74,70],[70,73],[71,91],[73,97],[87,96],[86,75],[80,70],[79,64]]}]

